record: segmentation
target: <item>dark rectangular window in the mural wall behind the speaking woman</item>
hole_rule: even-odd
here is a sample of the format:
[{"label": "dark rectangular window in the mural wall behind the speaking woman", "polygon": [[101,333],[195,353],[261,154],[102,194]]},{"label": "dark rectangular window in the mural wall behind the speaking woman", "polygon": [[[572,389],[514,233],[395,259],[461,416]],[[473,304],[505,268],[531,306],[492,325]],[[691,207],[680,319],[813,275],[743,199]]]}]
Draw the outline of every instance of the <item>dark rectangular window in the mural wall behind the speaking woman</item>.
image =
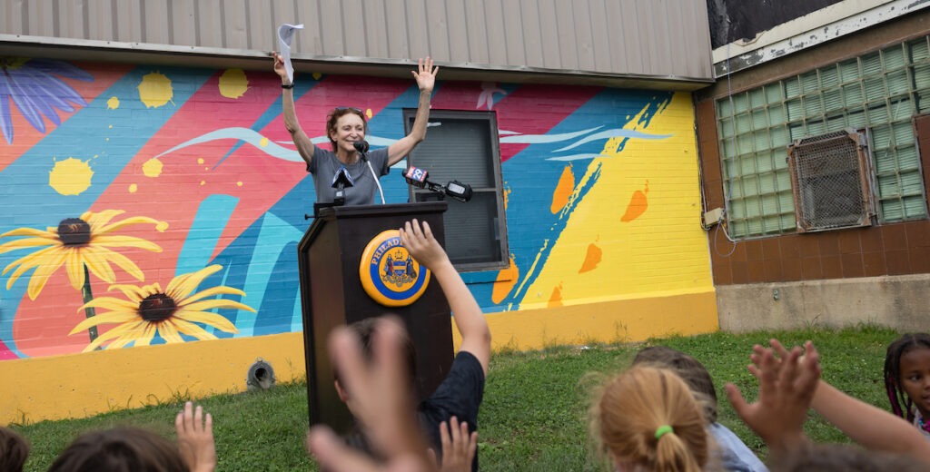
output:
[{"label": "dark rectangular window in the mural wall behind the speaking woman", "polygon": [[[405,131],[416,110],[404,110]],[[500,176],[498,121],[493,111],[430,112],[428,138],[407,156],[409,165],[429,171],[432,182],[450,180],[472,186],[467,203],[446,198],[445,249],[459,270],[504,269],[509,263],[507,226]],[[410,188],[410,201],[434,198],[430,190]]]}]

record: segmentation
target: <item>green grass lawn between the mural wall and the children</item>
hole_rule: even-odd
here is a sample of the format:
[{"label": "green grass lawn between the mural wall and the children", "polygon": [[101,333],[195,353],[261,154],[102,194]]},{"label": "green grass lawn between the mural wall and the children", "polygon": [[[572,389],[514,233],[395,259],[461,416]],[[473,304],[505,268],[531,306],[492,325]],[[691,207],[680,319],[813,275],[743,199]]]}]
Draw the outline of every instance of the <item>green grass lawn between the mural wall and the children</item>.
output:
[{"label": "green grass lawn between the mural wall and the children", "polygon": [[[724,394],[724,383],[732,382],[747,397],[754,397],[755,380],[746,369],[753,344],[764,344],[770,337],[792,345],[811,339],[820,351],[823,376],[828,382],[887,409],[882,381],[884,350],[897,335],[893,330],[873,326],[842,331],[812,327],[789,332],[715,333],[651,339],[645,343],[498,352],[491,359],[479,418],[481,469],[599,470],[586,445],[584,416],[589,392],[581,379],[589,372],[609,373],[626,368],[639,348],[654,345],[680,349],[707,366],[720,399],[720,422],[764,457],[764,444],[740,423]],[[12,427],[33,444],[26,470],[41,471],[51,465],[75,436],[89,429],[143,426],[173,437],[174,416],[181,400],[185,399],[80,420]],[[199,401],[214,416],[219,470],[316,469],[303,448],[308,417],[305,384],[217,395]],[[811,413],[806,428],[817,441],[846,442],[839,431],[816,413]]]}]

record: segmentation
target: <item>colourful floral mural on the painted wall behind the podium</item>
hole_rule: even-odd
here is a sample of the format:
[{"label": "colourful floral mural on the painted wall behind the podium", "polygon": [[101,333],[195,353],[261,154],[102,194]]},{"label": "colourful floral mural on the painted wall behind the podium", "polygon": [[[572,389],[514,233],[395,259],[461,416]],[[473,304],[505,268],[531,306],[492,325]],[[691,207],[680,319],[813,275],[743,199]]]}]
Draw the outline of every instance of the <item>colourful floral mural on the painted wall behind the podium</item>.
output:
[{"label": "colourful floral mural on the painted wall behind the podium", "polygon": [[[0,69],[0,373],[194,350],[219,364],[236,340],[267,340],[296,347],[286,363],[299,377],[296,246],[314,192],[277,77],[51,59]],[[295,88],[315,143],[326,112],[350,105],[374,147],[403,136],[418,93],[412,80],[321,74]],[[497,112],[511,268],[463,274],[496,346],[716,329],[689,95],[440,82],[432,107]],[[398,170],[382,178],[389,203],[407,201]],[[112,408],[139,388],[104,391]],[[33,418],[80,415],[20,400]]]}]

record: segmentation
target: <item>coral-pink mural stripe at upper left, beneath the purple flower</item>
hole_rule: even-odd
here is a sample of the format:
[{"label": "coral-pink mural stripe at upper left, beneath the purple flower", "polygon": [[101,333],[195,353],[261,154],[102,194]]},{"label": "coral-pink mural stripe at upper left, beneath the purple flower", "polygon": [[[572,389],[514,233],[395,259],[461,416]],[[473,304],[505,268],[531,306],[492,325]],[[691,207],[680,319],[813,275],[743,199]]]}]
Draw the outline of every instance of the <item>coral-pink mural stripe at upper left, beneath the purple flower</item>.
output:
[{"label": "coral-pink mural stripe at upper left, beneath the purple flower", "polygon": [[[73,63],[73,66],[79,67],[85,72],[93,75],[93,82],[85,82],[61,76],[56,77],[60,79],[61,82],[69,85],[78,95],[84,98],[88,104],[97,99],[101,93],[110,88],[113,83],[134,67],[128,64],[112,64],[108,65],[106,68],[102,68],[99,64],[91,65],[77,62]],[[81,111],[83,108],[74,104],[73,106],[75,111],[71,112],[60,111],[58,109],[55,110],[58,112],[61,123],[66,122],[73,114]],[[3,150],[0,152],[0,172],[3,172],[3,170],[7,168],[7,165],[16,162],[22,154],[32,149],[37,142],[41,141],[58,127],[58,125],[55,125],[45,118],[46,132],[42,133],[26,121],[26,118],[22,116],[22,113],[12,100],[10,100],[9,109],[15,135],[12,144],[8,144],[6,139],[0,137],[0,150]]]}]

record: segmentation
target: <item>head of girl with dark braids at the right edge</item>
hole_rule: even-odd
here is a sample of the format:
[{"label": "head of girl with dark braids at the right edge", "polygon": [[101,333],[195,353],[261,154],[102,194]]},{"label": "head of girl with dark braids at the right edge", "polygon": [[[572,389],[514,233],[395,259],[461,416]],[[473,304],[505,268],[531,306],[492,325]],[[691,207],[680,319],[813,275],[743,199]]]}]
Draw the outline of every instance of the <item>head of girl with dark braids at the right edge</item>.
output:
[{"label": "head of girl with dark braids at the right edge", "polygon": [[884,387],[892,413],[930,439],[930,334],[904,334],[888,345]]}]

